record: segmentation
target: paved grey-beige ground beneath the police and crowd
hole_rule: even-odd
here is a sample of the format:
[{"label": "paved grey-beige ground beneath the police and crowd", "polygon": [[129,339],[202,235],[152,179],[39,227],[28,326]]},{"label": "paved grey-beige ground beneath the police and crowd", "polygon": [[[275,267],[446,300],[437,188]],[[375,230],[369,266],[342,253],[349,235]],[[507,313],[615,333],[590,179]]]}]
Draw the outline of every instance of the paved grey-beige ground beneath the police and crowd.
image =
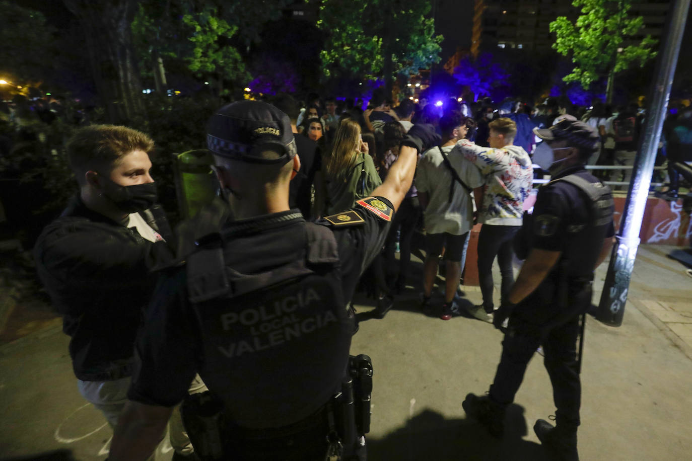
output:
[{"label": "paved grey-beige ground beneath the police and crowd", "polygon": [[[582,460],[690,459],[692,279],[668,250],[640,247],[621,327],[588,321]],[[477,290],[466,295],[480,301]],[[370,460],[543,460],[531,427],[554,407],[540,356],[507,415],[507,434],[493,440],[465,419],[461,404],[466,393],[487,390],[500,333],[473,319],[426,317],[414,290],[398,301],[383,320],[357,306],[363,321],[352,352],[367,352],[375,367]],[[0,460],[106,457],[111,430],[78,394],[67,343],[48,326],[0,346]],[[37,458],[42,453],[52,455]]]}]

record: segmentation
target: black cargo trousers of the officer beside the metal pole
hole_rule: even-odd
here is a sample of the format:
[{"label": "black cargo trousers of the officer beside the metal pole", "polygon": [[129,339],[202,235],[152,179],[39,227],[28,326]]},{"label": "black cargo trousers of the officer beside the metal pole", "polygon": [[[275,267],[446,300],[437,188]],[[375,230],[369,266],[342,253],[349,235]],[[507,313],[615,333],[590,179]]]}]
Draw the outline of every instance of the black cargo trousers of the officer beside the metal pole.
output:
[{"label": "black cargo trousers of the officer beside the metal pole", "polygon": [[567,305],[562,310],[552,303],[554,286],[549,281],[516,306],[502,341],[502,357],[490,396],[500,404],[513,402],[531,357],[538,346],[543,346],[543,364],[557,408],[556,422],[565,429],[576,429],[581,406],[576,339],[579,316],[591,302],[591,284],[574,284],[568,290]]}]

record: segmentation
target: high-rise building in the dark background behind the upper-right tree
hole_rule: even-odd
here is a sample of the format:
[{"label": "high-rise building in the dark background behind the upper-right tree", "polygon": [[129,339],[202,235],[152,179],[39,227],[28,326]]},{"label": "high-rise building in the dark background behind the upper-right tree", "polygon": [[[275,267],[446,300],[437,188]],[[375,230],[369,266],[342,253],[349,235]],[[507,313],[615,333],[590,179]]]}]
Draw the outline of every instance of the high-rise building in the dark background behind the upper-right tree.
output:
[{"label": "high-rise building in the dark background behind the upper-right tree", "polygon": [[[624,45],[639,43],[646,35],[660,39],[669,6],[670,0],[633,0],[630,15],[644,17],[644,28]],[[572,0],[475,0],[474,9],[471,46],[486,49],[548,50],[555,41],[550,23],[558,16],[579,15]]]}]

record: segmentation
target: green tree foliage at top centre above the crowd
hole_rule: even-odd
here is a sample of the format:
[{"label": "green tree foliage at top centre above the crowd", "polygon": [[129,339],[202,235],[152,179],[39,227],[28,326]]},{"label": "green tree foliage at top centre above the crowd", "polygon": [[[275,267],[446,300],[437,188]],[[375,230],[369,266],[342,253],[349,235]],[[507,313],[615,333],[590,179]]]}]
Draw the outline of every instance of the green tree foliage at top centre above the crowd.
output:
[{"label": "green tree foliage at top centre above the crowd", "polygon": [[318,28],[328,34],[320,53],[325,75],[347,70],[388,79],[439,62],[443,37],[433,35],[428,12],[427,0],[322,0]]}]

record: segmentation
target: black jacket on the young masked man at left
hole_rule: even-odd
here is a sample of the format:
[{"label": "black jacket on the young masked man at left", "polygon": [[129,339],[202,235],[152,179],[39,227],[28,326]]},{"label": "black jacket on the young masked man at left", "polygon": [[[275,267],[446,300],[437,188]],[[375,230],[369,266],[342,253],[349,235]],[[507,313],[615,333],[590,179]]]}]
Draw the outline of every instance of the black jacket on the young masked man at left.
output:
[{"label": "black jacket on the young masked man at left", "polygon": [[174,257],[163,209],[155,205],[141,216],[165,242],[147,241],[75,198],[34,248],[39,278],[72,338],[75,375],[84,381],[129,375],[141,309],[156,282],[149,270]]}]

